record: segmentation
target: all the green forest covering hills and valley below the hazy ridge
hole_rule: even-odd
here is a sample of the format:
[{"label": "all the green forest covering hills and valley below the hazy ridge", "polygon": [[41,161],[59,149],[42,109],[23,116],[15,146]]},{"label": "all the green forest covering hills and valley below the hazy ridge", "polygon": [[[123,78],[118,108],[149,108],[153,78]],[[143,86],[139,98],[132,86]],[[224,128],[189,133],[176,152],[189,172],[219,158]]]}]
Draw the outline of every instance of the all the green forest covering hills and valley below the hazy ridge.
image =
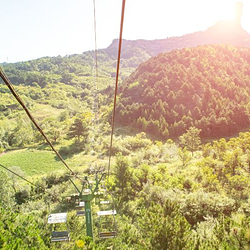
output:
[{"label": "all the green forest covering hills and valley below the hazy ridge", "polygon": [[[1,67],[77,176],[107,170],[115,52]],[[69,197],[71,176],[0,82],[0,249],[250,249],[250,49],[204,45],[121,61],[108,199],[117,236],[94,240]],[[144,62],[145,61],[145,62]],[[105,182],[105,181],[104,181]],[[51,242],[67,212],[69,242]]]}]

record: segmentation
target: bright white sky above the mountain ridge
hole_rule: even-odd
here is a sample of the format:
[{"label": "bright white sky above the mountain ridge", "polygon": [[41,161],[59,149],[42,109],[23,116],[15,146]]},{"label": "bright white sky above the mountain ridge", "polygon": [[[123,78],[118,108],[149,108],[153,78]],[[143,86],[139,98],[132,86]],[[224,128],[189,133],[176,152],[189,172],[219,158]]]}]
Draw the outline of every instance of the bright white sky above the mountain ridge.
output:
[{"label": "bright white sky above the mountain ridge", "polygon": [[[94,50],[94,0],[0,0],[0,63]],[[250,33],[250,1],[242,26]],[[126,0],[123,38],[163,39],[234,19],[235,0]],[[119,37],[122,0],[95,0],[97,47]]]}]

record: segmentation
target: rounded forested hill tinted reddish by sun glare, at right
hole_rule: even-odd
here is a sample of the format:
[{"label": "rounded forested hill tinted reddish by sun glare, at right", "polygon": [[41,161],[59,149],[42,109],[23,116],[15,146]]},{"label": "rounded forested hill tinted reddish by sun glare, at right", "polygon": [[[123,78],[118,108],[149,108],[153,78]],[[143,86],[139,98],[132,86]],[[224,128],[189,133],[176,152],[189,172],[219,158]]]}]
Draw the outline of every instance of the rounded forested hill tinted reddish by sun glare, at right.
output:
[{"label": "rounded forested hill tinted reddish by sun glare, at right", "polygon": [[204,45],[159,54],[123,83],[118,122],[167,138],[190,126],[203,137],[249,126],[250,49]]}]

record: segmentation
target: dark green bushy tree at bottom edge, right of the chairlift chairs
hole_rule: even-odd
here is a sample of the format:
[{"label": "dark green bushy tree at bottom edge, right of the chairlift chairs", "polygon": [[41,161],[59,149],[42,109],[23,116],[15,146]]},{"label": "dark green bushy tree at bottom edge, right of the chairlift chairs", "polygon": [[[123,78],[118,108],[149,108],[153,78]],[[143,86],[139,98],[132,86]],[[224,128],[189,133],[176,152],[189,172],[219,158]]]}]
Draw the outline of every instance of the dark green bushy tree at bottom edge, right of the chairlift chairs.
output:
[{"label": "dark green bushy tree at bottom edge, right of the chairlift chairs", "polygon": [[191,227],[175,203],[166,200],[138,212],[144,249],[189,249]]}]

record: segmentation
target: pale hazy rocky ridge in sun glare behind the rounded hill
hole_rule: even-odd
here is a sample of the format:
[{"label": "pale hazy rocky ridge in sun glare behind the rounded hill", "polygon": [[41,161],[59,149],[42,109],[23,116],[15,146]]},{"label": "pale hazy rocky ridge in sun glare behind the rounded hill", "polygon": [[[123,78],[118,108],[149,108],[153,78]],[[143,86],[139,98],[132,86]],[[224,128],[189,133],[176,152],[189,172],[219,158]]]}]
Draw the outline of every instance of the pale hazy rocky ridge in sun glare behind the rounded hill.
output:
[{"label": "pale hazy rocky ridge in sun glare behind the rounded hill", "polygon": [[[156,56],[162,52],[174,49],[196,47],[205,44],[231,44],[236,46],[250,47],[250,35],[236,21],[219,21],[205,31],[199,31],[180,37],[171,37],[158,40],[123,40],[122,55],[128,58],[129,51],[137,49],[148,56]],[[113,40],[107,48],[109,56],[117,55],[118,40]]]}]

